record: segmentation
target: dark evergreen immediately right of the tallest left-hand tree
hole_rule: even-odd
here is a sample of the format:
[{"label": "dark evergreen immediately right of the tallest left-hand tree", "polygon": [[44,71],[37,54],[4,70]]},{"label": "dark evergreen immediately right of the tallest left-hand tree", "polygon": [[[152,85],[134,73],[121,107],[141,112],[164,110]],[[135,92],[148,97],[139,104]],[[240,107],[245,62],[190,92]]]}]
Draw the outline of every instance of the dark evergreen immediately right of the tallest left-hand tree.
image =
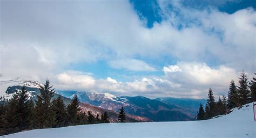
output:
[{"label": "dark evergreen immediately right of the tallest left-hand tree", "polygon": [[55,112],[55,127],[63,127],[65,125],[67,113],[65,110],[63,99],[58,96],[57,99],[52,101],[52,110]]}]

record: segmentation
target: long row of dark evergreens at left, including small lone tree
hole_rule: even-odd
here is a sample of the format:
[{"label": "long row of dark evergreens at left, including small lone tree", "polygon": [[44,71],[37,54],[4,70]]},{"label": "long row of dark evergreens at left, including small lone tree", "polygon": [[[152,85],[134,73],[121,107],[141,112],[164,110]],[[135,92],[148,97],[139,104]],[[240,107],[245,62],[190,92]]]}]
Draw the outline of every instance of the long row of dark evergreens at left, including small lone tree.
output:
[{"label": "long row of dark evergreens at left, including small lone tree", "polygon": [[[6,103],[0,104],[0,135],[21,132],[26,129],[56,128],[73,125],[109,123],[107,112],[93,115],[91,111],[82,112],[77,95],[66,106],[62,97],[52,99],[55,89],[46,80],[40,87],[35,101],[29,99],[25,86],[16,90]],[[124,108],[120,109],[118,122],[126,122]]]}]

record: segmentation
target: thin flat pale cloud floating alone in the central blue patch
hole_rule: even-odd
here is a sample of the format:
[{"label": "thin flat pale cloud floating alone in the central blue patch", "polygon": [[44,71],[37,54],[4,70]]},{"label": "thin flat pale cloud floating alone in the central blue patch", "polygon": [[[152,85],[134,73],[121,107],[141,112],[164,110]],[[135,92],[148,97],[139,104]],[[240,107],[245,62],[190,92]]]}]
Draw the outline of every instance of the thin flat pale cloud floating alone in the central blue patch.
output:
[{"label": "thin flat pale cloud floating alone in the central blue patch", "polygon": [[131,71],[156,71],[149,64],[142,60],[123,59],[109,61],[109,66],[114,69],[127,69]]}]

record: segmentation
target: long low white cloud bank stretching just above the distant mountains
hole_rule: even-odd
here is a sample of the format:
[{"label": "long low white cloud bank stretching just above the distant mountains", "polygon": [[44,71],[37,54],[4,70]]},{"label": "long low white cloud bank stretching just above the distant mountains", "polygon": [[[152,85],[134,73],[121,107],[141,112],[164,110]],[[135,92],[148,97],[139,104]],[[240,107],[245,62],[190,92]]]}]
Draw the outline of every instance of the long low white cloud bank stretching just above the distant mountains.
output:
[{"label": "long low white cloud bank stretching just above the distant mountains", "polygon": [[206,63],[178,62],[164,67],[164,76],[143,77],[131,82],[116,79],[95,79],[79,71],[59,74],[56,86],[62,90],[85,90],[110,92],[117,95],[156,97],[206,98],[208,88],[215,95],[226,95],[231,80],[236,80],[238,72],[232,68],[219,66],[211,68]]}]

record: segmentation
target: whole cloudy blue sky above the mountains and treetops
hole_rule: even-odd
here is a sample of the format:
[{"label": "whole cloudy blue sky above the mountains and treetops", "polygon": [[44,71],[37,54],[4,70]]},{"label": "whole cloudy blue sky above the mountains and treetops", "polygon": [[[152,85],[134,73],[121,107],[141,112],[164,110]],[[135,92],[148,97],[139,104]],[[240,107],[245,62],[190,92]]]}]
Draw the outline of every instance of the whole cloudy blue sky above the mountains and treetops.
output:
[{"label": "whole cloudy blue sky above the mountains and treetops", "polygon": [[[256,69],[255,0],[1,0],[0,79],[206,98]],[[0,92],[3,93],[3,92]]]}]

